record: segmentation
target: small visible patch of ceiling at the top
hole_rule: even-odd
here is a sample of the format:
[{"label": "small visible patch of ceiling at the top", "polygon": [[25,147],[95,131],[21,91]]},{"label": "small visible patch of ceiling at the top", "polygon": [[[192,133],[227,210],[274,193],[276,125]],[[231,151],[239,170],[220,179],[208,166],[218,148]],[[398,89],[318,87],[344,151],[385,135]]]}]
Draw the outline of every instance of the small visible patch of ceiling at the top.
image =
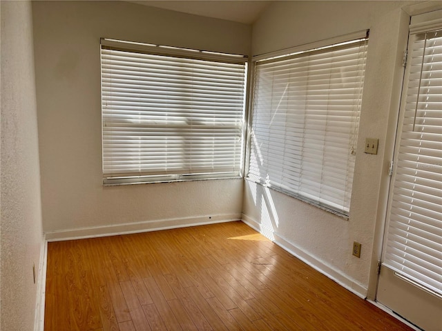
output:
[{"label": "small visible patch of ceiling at the top", "polygon": [[152,6],[176,12],[186,12],[215,19],[227,19],[240,23],[251,24],[256,21],[260,14],[269,6],[270,1],[128,1],[139,3],[144,6]]}]

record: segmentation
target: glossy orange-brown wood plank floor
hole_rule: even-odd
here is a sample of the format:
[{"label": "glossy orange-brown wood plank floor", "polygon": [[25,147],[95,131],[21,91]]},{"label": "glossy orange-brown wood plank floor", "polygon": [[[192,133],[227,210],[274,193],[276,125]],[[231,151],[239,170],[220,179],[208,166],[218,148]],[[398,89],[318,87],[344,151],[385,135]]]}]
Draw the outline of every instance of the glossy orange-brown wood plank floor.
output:
[{"label": "glossy orange-brown wood plank floor", "polygon": [[48,243],[45,330],[412,329],[237,221]]}]

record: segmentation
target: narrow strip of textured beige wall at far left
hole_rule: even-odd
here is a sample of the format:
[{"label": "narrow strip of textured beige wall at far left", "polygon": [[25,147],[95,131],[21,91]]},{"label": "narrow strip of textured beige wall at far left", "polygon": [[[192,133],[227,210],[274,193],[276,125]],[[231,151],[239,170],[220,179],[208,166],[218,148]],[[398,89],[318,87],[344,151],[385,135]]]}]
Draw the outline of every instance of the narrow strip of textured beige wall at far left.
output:
[{"label": "narrow strip of textured beige wall at far left", "polygon": [[[43,232],[27,1],[1,1],[1,330],[33,330]],[[38,274],[37,274],[38,276]]]}]

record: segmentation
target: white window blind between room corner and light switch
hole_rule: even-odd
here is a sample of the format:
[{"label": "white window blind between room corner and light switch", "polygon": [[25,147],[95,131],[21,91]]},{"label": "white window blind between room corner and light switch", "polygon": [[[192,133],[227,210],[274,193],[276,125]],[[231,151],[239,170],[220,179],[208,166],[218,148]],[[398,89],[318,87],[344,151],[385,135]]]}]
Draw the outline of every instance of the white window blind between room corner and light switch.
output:
[{"label": "white window blind between room corner and light switch", "polygon": [[366,53],[363,38],[256,62],[249,179],[348,214]]}]

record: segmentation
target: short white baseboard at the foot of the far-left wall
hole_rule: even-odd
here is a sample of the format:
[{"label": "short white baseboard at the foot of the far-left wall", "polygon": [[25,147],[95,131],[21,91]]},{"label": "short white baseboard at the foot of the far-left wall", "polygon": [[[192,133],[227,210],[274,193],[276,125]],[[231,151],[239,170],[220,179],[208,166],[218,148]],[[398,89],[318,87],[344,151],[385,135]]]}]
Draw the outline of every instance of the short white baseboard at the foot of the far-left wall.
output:
[{"label": "short white baseboard at the foot of the far-left wall", "polygon": [[44,331],[44,307],[46,297],[46,268],[48,262],[48,241],[43,236],[40,248],[39,272],[37,277],[37,299],[35,303],[34,331]]}]

